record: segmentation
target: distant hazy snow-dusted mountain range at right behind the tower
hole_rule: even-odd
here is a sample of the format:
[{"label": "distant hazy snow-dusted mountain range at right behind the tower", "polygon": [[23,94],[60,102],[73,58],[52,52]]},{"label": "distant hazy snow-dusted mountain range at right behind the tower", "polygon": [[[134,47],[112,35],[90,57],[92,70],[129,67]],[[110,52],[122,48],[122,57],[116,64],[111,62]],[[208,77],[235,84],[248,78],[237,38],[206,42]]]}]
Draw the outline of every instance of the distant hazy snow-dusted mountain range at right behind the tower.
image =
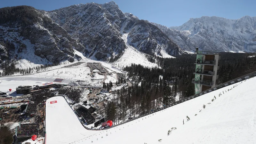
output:
[{"label": "distant hazy snow-dusted mountain range at right behind the tower", "polygon": [[179,27],[155,24],[181,48],[194,51],[220,50],[226,52],[256,52],[256,17],[244,16],[229,20],[216,16],[191,18]]}]

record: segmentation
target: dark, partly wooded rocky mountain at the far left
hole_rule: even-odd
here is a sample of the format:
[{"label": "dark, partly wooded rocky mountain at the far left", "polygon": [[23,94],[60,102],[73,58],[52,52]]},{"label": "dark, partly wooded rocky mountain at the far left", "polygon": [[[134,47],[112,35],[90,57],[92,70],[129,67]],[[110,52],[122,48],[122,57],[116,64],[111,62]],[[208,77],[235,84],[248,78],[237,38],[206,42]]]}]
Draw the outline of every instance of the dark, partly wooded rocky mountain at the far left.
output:
[{"label": "dark, partly wooded rocky mountain at the far left", "polygon": [[[0,9],[3,15],[0,23],[1,59],[25,59],[24,53],[33,51],[36,56],[50,62],[74,61],[76,40],[66,30],[30,6],[6,7]],[[9,18],[10,12],[12,13]],[[19,13],[22,13],[19,16]],[[6,54],[8,52],[8,54]]]}]

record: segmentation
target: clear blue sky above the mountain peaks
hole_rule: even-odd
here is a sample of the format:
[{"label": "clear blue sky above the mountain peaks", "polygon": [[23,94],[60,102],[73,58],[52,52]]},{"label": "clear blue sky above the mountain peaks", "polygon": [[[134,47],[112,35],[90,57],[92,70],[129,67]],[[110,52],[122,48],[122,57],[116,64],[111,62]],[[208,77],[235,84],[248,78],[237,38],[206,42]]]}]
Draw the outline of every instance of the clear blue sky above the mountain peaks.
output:
[{"label": "clear blue sky above the mountain peaks", "polygon": [[[73,4],[99,3],[111,0],[2,0],[0,8],[30,5],[51,11]],[[123,12],[130,12],[139,19],[164,26],[180,26],[189,18],[218,16],[239,19],[245,15],[256,16],[256,0],[114,0]]]}]

